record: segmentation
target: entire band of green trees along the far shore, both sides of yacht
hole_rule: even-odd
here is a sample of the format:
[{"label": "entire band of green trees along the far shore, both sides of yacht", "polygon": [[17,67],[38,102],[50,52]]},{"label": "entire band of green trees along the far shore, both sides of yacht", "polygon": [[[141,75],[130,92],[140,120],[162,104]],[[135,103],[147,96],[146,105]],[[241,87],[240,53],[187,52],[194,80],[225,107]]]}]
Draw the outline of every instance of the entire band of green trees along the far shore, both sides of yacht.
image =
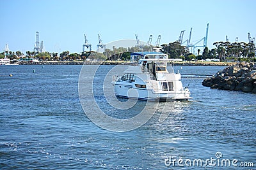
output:
[{"label": "entire band of green trees along the far shore, both sides of yacht", "polygon": [[[193,54],[189,52],[186,46],[180,45],[178,41],[173,43],[168,43],[161,45],[162,52],[167,53],[169,58],[172,59],[183,59],[183,60],[202,60],[202,59],[220,59],[220,61],[232,60],[237,61],[254,61],[255,58],[255,45],[253,43],[244,42],[215,42],[213,43],[216,48],[211,50],[205,46],[202,54],[201,50],[198,48],[197,53]],[[22,59],[22,58],[36,58],[40,60],[86,60],[86,59],[98,59],[98,60],[129,60],[131,57],[131,52],[142,52],[142,51],[152,51],[153,46],[132,46],[128,48],[113,46],[113,49],[106,49],[103,53],[97,52],[81,52],[81,53],[70,53],[69,51],[58,53],[50,52],[30,52],[27,51],[26,54],[17,52],[5,52],[6,57],[9,59]],[[191,49],[192,50],[192,49]],[[0,59],[4,58],[4,52],[0,53]]]}]

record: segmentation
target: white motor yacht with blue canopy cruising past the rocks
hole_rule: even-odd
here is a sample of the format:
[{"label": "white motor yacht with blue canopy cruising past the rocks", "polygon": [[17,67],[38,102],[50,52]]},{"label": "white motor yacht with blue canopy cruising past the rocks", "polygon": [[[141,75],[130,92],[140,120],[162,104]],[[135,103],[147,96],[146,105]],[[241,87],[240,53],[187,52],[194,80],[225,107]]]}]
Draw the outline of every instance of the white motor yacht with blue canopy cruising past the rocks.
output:
[{"label": "white motor yacht with blue canopy cruising past the rocks", "polygon": [[189,89],[182,86],[179,73],[168,71],[170,62],[161,52],[131,53],[131,66],[122,76],[113,75],[115,95],[146,101],[188,101]]}]

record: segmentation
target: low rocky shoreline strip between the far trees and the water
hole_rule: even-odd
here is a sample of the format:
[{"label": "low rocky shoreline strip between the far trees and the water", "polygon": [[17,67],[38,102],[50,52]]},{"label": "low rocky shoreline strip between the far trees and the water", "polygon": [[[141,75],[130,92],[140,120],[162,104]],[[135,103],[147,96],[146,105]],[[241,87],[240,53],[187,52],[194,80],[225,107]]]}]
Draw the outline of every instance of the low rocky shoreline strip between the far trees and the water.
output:
[{"label": "low rocky shoreline strip between the far trees and the water", "polygon": [[[172,62],[173,66],[232,66],[237,62]],[[129,65],[126,61],[41,61],[41,62],[20,62],[19,65]]]}]

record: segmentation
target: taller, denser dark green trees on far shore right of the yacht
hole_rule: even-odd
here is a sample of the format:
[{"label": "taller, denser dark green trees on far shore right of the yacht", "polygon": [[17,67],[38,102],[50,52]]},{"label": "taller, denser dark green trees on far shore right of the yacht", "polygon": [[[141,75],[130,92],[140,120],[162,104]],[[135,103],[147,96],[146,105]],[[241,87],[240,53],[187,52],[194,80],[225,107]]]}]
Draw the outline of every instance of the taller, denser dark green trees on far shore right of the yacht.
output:
[{"label": "taller, denser dark green trees on far shore right of the yacht", "polygon": [[215,42],[213,43],[216,48],[209,50],[205,46],[202,55],[200,55],[200,49],[197,49],[197,55],[189,52],[186,46],[180,45],[178,41],[169,43],[168,45],[163,44],[162,50],[164,53],[168,53],[170,58],[177,59],[182,58],[184,60],[202,60],[202,59],[220,59],[220,61],[233,60],[237,61],[254,61],[255,59],[255,45],[254,43],[244,43],[244,42]]}]

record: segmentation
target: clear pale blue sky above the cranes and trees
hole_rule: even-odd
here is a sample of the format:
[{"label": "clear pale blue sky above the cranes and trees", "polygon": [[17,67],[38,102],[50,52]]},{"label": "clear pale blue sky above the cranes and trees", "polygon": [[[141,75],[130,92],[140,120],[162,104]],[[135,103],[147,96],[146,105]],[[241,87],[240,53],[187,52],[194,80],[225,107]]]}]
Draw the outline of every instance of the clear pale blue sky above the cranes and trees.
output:
[{"label": "clear pale blue sky above the cranes and trees", "polygon": [[[255,0],[0,0],[0,49],[7,43],[11,51],[33,51],[39,31],[48,52],[81,52],[84,33],[96,50],[97,34],[103,43],[118,39],[152,43],[161,34],[161,42],[169,43],[184,32],[183,41],[195,43],[205,36],[209,23],[207,46],[230,42],[236,37],[248,42],[248,32],[256,37]],[[201,43],[202,44],[202,43]]]}]

